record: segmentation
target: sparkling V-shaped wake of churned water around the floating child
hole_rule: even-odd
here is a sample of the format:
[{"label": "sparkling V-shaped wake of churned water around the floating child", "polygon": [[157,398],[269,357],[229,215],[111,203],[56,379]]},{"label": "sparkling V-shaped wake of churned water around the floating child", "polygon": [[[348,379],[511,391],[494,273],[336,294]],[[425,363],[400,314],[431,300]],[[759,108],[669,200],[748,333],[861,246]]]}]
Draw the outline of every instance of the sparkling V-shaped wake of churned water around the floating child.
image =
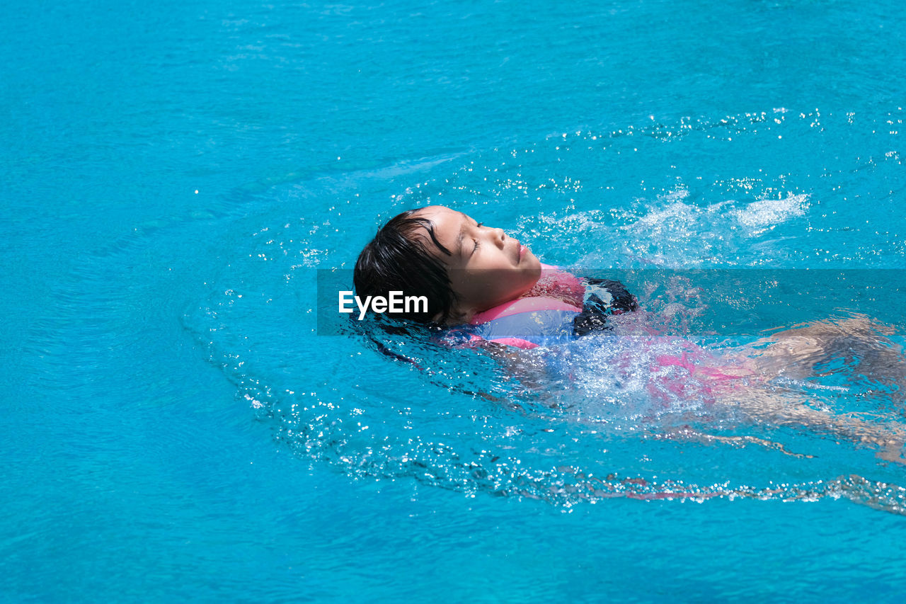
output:
[{"label": "sparkling V-shaped wake of churned water around the floating child", "polygon": [[[825,129],[858,127],[821,118]],[[766,299],[783,283],[774,277],[764,297],[721,297],[718,278],[710,289],[694,278],[636,278],[647,332],[623,325],[622,339],[526,353],[517,366],[407,336],[381,336],[381,346],[361,334],[317,336],[314,326],[313,268],[348,266],[384,219],[434,203],[509,229],[565,266],[864,263],[861,231],[838,229],[849,208],[834,200],[853,170],[856,180],[886,182],[899,159],[841,165],[819,154],[797,166],[776,146],[808,141],[814,120],[792,111],[651,120],[284,184],[255,198],[265,209],[237,221],[223,246],[233,258],[184,325],[279,443],[355,479],[406,478],[564,509],[613,497],[846,498],[901,512],[897,472],[872,449],[746,424],[716,409],[682,365],[659,364],[682,358],[682,338],[717,354],[775,327],[765,319]],[[316,216],[314,203],[323,205]],[[823,253],[851,243],[845,254]],[[881,252],[903,258],[896,242]],[[837,393],[845,411],[844,391],[806,394],[835,403],[827,393]]]}]

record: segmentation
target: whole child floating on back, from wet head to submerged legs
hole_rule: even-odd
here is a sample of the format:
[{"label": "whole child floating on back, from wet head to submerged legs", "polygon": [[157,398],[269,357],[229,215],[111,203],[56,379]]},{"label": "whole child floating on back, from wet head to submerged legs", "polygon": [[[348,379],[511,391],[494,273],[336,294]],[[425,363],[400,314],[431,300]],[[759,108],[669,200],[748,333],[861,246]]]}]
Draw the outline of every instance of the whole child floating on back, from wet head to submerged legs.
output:
[{"label": "whole child floating on back, from wet head to submerged legs", "polygon": [[[503,229],[443,206],[411,209],[390,219],[361,251],[353,280],[361,297],[391,291],[427,297],[427,309],[395,317],[444,326],[448,344],[481,346],[509,357],[507,350],[553,346],[600,332],[607,328],[608,317],[638,307],[618,281],[579,279],[548,267]],[[857,327],[871,333],[863,324]],[[688,372],[688,379],[702,385],[713,400],[732,404],[750,418],[808,425],[871,443],[883,459],[902,463],[906,427],[790,404],[771,387],[787,365],[795,365],[803,342],[814,346],[830,331],[814,325],[788,335],[780,332],[729,358],[684,342],[679,354],[657,356],[656,364]],[[837,331],[849,333],[846,325],[838,325]],[[762,344],[773,347],[766,352]],[[892,354],[901,358],[899,351]],[[684,385],[669,387],[684,390]]]}]

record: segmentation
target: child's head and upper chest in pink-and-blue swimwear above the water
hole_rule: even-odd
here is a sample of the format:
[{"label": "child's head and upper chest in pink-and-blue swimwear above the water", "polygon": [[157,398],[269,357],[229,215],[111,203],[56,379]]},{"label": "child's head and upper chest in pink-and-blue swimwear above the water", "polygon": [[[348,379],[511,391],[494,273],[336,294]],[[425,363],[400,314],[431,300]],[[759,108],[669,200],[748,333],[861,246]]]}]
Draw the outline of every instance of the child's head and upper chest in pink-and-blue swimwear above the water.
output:
[{"label": "child's head and upper chest in pink-and-blue swimwear above the water", "polygon": [[361,297],[401,291],[428,299],[427,310],[399,318],[484,326],[471,335],[527,348],[581,336],[606,315],[637,307],[619,282],[581,281],[543,265],[503,229],[443,206],[390,219],[362,250],[353,279]]}]

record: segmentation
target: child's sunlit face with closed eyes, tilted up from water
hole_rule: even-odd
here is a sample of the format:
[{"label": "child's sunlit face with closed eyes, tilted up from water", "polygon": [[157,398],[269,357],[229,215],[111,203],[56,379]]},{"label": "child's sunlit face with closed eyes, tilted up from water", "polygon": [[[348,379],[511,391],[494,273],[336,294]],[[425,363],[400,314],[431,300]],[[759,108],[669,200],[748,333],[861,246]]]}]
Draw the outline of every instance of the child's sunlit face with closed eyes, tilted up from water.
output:
[{"label": "child's sunlit face with closed eyes, tilted up from water", "polygon": [[434,234],[452,252],[447,256],[429,243],[447,267],[450,285],[458,298],[457,320],[516,299],[541,277],[541,262],[503,229],[492,229],[462,212],[443,206],[420,209],[420,218],[434,223]]}]

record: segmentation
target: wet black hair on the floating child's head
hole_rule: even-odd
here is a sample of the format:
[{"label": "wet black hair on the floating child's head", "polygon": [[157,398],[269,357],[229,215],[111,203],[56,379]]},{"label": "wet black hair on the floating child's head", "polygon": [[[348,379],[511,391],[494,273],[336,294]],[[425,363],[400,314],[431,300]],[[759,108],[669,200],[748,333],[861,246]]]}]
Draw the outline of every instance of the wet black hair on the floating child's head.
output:
[{"label": "wet black hair on the floating child's head", "polygon": [[391,291],[403,296],[428,298],[428,312],[419,305],[410,312],[392,317],[419,323],[444,323],[457,301],[450,286],[447,268],[428,248],[430,242],[447,256],[452,256],[434,234],[434,223],[409,209],[390,219],[371,242],[361,250],[352,272],[357,296],[389,297]]}]

